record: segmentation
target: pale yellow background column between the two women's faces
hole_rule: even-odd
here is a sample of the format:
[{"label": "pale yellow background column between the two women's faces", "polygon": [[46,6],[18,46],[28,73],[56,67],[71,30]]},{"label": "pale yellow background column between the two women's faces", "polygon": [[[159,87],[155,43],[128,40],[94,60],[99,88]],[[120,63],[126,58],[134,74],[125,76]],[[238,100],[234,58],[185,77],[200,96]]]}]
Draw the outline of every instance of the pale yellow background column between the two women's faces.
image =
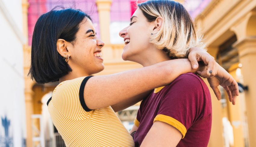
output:
[{"label": "pale yellow background column between the two women's faces", "polygon": [[99,15],[99,25],[101,40],[105,43],[102,54],[104,59],[113,58],[113,50],[110,43],[110,8],[112,0],[96,0],[98,15]]}]

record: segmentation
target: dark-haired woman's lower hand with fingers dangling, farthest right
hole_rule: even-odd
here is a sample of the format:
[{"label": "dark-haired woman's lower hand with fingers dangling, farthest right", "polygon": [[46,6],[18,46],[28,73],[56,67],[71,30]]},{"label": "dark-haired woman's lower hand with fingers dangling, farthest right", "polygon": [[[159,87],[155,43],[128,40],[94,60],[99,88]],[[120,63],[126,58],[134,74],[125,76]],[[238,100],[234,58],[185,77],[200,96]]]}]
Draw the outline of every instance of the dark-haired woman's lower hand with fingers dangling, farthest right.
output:
[{"label": "dark-haired woman's lower hand with fingers dangling, farthest right", "polygon": [[[229,101],[232,102],[233,105],[236,104],[236,96],[239,96],[238,84],[236,80],[217,63],[217,75],[214,77],[207,78],[210,87],[213,89],[214,94],[216,95],[217,99],[221,99],[220,90],[218,86],[222,86],[229,97]],[[197,71],[200,75],[201,71]]]}]

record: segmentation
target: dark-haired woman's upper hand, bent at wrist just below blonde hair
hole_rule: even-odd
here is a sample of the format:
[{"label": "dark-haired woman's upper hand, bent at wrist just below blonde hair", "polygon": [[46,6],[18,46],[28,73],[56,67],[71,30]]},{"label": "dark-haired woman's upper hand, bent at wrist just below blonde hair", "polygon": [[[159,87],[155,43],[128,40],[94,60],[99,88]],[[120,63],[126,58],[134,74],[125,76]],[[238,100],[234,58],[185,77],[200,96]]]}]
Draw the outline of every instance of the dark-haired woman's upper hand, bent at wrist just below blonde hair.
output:
[{"label": "dark-haired woman's upper hand, bent at wrist just below blonde hair", "polygon": [[201,72],[200,76],[204,78],[215,76],[217,73],[216,61],[207,51],[200,48],[191,48],[189,52],[189,61],[193,69],[198,69],[198,62],[203,61],[206,70]]}]

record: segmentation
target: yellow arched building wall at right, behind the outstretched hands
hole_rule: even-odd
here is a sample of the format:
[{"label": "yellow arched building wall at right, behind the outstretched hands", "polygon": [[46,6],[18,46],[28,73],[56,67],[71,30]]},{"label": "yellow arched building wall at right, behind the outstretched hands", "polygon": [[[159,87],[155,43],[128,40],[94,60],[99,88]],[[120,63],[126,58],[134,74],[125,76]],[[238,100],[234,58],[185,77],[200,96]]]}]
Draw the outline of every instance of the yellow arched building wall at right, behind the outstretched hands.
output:
[{"label": "yellow arched building wall at right, behind the outstretched hands", "polygon": [[[236,81],[249,87],[248,91],[240,93],[236,105],[227,103],[227,117],[233,128],[234,144],[230,146],[256,146],[256,87],[255,74],[256,66],[256,19],[255,19],[256,1],[255,0],[214,0],[195,18],[196,28],[204,34],[206,42],[212,49],[218,52],[219,46],[236,35],[237,41],[233,48],[238,49],[239,63],[242,68],[238,68],[238,63],[229,69],[229,73],[236,78]],[[208,51],[209,51],[208,49]],[[214,52],[215,53],[215,52]],[[236,70],[241,69],[243,81],[237,78]],[[218,104],[219,105],[219,104]],[[213,103],[213,114],[216,113],[216,107]],[[215,110],[214,110],[215,109]],[[220,112],[219,110],[217,110]],[[218,117],[222,117],[221,115]],[[244,120],[248,120],[248,128],[243,127]],[[220,119],[213,118],[213,127],[209,146],[224,146],[222,136],[223,126],[217,126]],[[214,131],[213,131],[214,130]],[[247,133],[248,144],[245,144]],[[214,136],[214,137],[212,137]],[[244,138],[245,137],[245,138]],[[220,143],[222,142],[222,143]]]}]

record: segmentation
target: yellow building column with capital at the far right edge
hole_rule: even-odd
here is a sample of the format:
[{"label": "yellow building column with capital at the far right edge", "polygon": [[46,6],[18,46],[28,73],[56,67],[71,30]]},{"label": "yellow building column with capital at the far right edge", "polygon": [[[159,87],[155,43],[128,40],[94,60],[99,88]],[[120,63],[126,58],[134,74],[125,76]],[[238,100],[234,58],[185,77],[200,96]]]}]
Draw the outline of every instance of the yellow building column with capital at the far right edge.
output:
[{"label": "yellow building column with capital at the far right edge", "polygon": [[249,145],[256,146],[256,37],[246,37],[244,40],[235,44],[239,51],[239,60],[242,63],[242,75],[244,85],[248,86],[245,91],[245,101],[247,109]]}]

